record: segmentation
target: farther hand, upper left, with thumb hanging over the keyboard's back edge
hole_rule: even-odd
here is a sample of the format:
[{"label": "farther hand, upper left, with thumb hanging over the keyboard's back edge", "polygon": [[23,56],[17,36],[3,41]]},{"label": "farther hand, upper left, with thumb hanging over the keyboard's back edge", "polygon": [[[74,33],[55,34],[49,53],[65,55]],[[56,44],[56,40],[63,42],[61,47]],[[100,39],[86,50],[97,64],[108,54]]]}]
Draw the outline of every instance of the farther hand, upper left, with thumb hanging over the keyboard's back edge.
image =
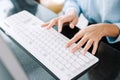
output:
[{"label": "farther hand, upper left, with thumb hanging over the keyboard's back edge", "polygon": [[75,27],[78,22],[78,15],[76,11],[69,11],[67,14],[54,18],[50,22],[44,23],[41,26],[50,29],[54,25],[58,25],[58,31],[61,32],[63,24],[67,22],[69,22],[69,26],[71,29]]}]

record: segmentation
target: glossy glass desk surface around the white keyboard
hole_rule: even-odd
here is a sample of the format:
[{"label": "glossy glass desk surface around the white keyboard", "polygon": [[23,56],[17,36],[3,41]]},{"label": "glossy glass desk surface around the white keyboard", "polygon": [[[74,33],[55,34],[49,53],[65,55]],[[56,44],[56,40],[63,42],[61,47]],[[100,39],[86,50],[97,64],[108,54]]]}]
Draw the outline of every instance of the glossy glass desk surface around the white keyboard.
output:
[{"label": "glossy glass desk surface around the white keyboard", "polygon": [[[33,15],[45,22],[57,17],[55,13],[32,0],[0,0],[0,5],[3,5],[0,9],[0,20],[22,10],[31,12]],[[68,31],[68,29],[65,30],[66,31],[64,31],[63,34],[66,34]],[[68,35],[68,37],[72,37],[76,31],[78,31],[78,29],[75,29],[73,32],[69,31],[69,34],[71,35]],[[27,54],[24,49],[2,33],[2,31],[0,31],[0,35],[3,35],[5,38],[30,80],[55,80],[53,76],[41,67],[38,61],[34,60],[32,56]],[[120,51],[101,42],[96,56],[100,58],[99,64],[89,72],[86,72],[78,80],[115,80],[116,77],[119,80]],[[104,77],[104,79],[101,77]],[[12,80],[1,61],[0,80]]]}]

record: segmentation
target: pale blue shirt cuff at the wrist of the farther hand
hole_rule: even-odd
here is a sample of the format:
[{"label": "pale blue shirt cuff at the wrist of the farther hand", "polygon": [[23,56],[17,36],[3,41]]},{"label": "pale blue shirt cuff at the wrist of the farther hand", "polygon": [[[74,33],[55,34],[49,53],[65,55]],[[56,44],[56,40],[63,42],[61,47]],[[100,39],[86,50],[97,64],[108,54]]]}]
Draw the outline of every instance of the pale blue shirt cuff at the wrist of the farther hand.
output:
[{"label": "pale blue shirt cuff at the wrist of the farther hand", "polygon": [[79,5],[77,4],[77,2],[73,2],[73,1],[66,1],[64,7],[63,7],[63,13],[67,14],[70,10],[74,10],[77,12],[78,16],[80,15],[81,11],[79,8]]}]

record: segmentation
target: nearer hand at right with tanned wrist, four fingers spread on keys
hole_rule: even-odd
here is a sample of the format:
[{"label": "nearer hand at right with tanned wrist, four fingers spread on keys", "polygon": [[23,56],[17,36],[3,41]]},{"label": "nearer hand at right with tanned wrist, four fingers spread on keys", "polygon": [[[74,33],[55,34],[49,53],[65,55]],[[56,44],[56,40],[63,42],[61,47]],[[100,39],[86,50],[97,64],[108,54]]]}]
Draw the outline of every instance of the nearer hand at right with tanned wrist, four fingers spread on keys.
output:
[{"label": "nearer hand at right with tanned wrist, four fingers spread on keys", "polygon": [[[71,46],[73,43],[80,41],[72,48],[72,52],[74,53],[78,49],[80,49],[85,43],[85,47],[81,51],[81,53],[85,54],[88,49],[93,45],[92,54],[95,54],[98,48],[98,43],[103,36],[107,36],[109,33],[112,35],[112,31],[116,30],[116,25],[112,24],[94,24],[90,25],[85,29],[80,30],[66,45],[66,47]],[[108,31],[108,32],[107,32]],[[111,31],[111,32],[110,32]],[[109,36],[108,35],[108,36]]]}]

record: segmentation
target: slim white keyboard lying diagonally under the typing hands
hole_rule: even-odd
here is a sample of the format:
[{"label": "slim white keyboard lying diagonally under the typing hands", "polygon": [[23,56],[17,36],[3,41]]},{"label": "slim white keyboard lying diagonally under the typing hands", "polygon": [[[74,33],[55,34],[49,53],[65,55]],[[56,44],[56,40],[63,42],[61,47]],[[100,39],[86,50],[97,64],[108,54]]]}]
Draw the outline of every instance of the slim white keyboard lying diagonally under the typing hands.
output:
[{"label": "slim white keyboard lying diagonally under the typing hands", "polygon": [[3,29],[60,80],[71,80],[98,62],[89,52],[71,53],[72,46],[65,48],[69,39],[53,28],[42,28],[41,23],[29,12],[22,11],[8,17]]}]

